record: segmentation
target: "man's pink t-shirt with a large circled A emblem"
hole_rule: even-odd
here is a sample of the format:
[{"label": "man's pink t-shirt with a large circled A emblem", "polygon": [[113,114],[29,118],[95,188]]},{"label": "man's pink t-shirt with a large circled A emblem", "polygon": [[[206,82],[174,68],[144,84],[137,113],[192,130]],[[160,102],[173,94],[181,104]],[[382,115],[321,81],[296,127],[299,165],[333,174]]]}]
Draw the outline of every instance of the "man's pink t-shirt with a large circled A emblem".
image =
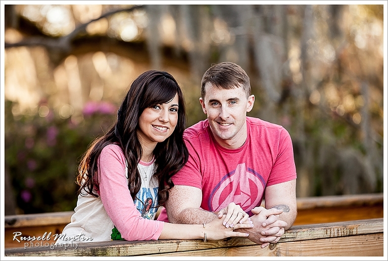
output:
[{"label": "man's pink t-shirt with a large circled A emblem", "polygon": [[[261,204],[265,187],[296,179],[297,173],[286,129],[247,117],[247,131],[243,146],[227,149],[215,141],[208,120],[187,128],[184,140],[189,159],[172,177],[174,184],[200,188],[204,210],[219,211],[234,202],[251,216],[251,210]],[[158,220],[168,221],[165,210]]]}]

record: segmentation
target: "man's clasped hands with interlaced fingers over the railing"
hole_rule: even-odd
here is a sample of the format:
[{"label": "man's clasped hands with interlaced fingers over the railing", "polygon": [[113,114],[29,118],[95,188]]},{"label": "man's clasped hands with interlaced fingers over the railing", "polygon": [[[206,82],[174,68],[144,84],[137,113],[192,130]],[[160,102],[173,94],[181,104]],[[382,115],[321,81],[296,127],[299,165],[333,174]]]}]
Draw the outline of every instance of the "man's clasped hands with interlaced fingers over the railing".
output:
[{"label": "man's clasped hands with interlaced fingers over the railing", "polygon": [[287,223],[278,218],[282,212],[283,210],[276,208],[267,210],[263,206],[255,207],[252,210],[255,215],[251,217],[254,227],[249,229],[249,232],[244,232],[249,233],[248,238],[261,245],[261,248],[269,246],[270,243],[277,243],[287,227]]}]

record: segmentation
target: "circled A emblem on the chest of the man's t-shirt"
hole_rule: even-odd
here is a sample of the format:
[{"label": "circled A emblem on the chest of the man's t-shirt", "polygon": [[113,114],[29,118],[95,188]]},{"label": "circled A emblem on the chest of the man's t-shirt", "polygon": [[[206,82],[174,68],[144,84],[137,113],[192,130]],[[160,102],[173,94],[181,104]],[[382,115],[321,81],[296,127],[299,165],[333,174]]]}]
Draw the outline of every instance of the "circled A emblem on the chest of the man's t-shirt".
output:
[{"label": "circled A emblem on the chest of the man's t-shirt", "polygon": [[245,163],[238,164],[234,171],[226,174],[214,187],[208,200],[209,211],[219,211],[230,202],[243,210],[252,210],[261,202],[265,188],[263,177]]}]

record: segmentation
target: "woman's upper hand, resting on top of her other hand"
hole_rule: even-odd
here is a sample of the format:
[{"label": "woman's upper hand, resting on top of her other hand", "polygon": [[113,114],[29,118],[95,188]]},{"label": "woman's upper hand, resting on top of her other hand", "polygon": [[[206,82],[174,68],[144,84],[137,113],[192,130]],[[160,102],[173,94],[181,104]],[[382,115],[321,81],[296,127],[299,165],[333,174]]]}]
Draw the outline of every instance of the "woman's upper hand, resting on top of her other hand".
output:
[{"label": "woman's upper hand, resting on top of her other hand", "polygon": [[237,227],[235,227],[237,224],[243,224],[245,222],[247,222],[247,224],[252,224],[249,215],[243,211],[243,208],[236,205],[234,202],[231,202],[225,208],[222,208],[217,213],[217,216],[219,219],[224,217],[222,224],[226,228],[231,227],[237,229]]}]

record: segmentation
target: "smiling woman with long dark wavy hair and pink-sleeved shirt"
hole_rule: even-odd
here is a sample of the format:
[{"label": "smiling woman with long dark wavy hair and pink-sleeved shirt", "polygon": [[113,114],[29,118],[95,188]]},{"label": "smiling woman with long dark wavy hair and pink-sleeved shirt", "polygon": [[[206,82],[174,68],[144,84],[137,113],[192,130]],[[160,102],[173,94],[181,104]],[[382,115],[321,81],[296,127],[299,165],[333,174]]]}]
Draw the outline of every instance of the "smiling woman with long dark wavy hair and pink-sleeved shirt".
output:
[{"label": "smiling woman with long dark wavy hair and pink-sleeved shirt", "polygon": [[253,226],[234,203],[208,224],[154,220],[174,186],[171,177],[188,158],[182,138],[185,125],[184,98],[176,80],[155,70],[137,77],[114,126],[83,156],[75,213],[56,243],[248,236],[222,225],[224,221],[237,224],[234,228]]}]

